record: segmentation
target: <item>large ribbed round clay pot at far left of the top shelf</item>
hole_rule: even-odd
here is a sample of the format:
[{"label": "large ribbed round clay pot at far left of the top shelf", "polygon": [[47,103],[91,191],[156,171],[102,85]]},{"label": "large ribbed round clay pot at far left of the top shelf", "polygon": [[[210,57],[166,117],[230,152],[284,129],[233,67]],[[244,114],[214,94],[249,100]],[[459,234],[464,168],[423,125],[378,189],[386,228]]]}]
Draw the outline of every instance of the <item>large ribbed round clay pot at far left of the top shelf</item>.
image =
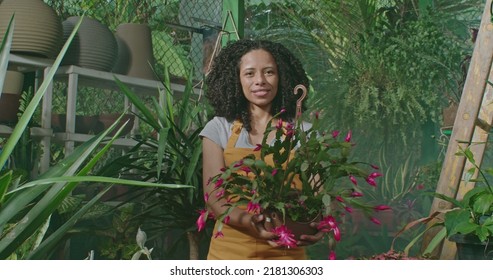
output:
[{"label": "large ribbed round clay pot at far left of the top shelf", "polygon": [[3,0],[0,4],[0,38],[4,37],[14,13],[11,52],[56,57],[62,46],[63,28],[55,10],[42,0]]}]

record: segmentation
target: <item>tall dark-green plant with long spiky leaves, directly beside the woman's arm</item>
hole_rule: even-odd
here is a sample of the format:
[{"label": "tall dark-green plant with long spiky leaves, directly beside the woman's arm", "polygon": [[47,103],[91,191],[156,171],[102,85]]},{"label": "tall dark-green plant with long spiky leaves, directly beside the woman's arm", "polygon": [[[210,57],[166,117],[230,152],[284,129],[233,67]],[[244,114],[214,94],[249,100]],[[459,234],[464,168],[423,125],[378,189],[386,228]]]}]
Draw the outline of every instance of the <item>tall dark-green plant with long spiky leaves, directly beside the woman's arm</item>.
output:
[{"label": "tall dark-green plant with long spiky leaves, directly beside the woman's arm", "polygon": [[[159,92],[160,98],[153,98],[151,104],[146,104],[118,80],[117,83],[135,106],[135,114],[154,133],[139,140],[137,146],[121,158],[108,163],[100,172],[105,175],[137,176],[146,181],[181,182],[193,186],[178,191],[149,189],[141,193],[139,199],[145,207],[137,215],[141,222],[151,227],[146,229],[149,240],[173,231],[177,234],[174,238],[178,243],[188,242],[188,257],[198,258],[197,242],[200,237],[196,233],[195,222],[199,209],[204,206],[199,133],[208,120],[207,107],[197,100],[192,79],[187,79],[183,94],[176,98],[171,91],[167,71],[163,77],[163,90]],[[117,162],[126,164],[115,168],[113,163]],[[132,172],[125,172],[126,170]],[[126,202],[139,203],[139,199],[133,198]],[[177,248],[174,246],[168,248],[168,257],[173,257],[175,249]],[[160,250],[156,251],[160,253]]]}]

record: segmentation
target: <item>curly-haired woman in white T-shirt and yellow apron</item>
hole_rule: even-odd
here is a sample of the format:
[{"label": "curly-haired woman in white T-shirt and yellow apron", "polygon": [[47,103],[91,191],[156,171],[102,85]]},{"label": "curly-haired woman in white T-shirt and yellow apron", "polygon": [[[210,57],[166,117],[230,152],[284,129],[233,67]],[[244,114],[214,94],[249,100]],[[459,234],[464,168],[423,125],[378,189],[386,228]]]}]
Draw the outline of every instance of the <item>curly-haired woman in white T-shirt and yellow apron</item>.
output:
[{"label": "curly-haired woman in white T-shirt and yellow apron", "polygon": [[[205,83],[206,97],[216,113],[201,132],[204,192],[210,193],[214,186],[209,179],[254,153],[273,115],[285,109],[283,117],[294,119],[299,98],[294,87],[308,88],[309,82],[301,62],[281,44],[239,40],[219,52]],[[273,138],[269,135],[268,141]],[[224,212],[224,203],[211,197],[207,206],[217,216]],[[218,238],[216,224],[208,259],[305,259],[302,246],[323,236],[321,232],[304,235],[296,248],[279,248],[272,241],[277,236],[265,229],[265,222],[269,218],[262,214],[234,209]]]}]

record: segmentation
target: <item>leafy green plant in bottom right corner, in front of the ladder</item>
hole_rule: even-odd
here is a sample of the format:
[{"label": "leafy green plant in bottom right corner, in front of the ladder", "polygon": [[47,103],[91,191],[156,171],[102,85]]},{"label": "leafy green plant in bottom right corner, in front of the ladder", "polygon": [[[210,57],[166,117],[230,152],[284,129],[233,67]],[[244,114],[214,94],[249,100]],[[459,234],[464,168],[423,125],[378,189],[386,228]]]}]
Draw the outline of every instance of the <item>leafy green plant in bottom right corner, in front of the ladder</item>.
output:
[{"label": "leafy green plant in bottom right corner, in front of the ladder", "polygon": [[[493,186],[488,179],[493,175],[493,169],[481,168],[474,159],[471,147],[472,144],[465,148],[459,146],[456,155],[466,157],[472,166],[466,170],[463,181],[465,184],[474,182],[474,187],[466,191],[462,199],[434,193],[434,196],[451,203],[452,208],[435,211],[427,217],[412,221],[396,235],[397,238],[402,232],[421,223],[431,224],[425,230],[441,227],[423,248],[424,256],[431,254],[448,239],[456,243],[458,259],[493,259],[493,247],[490,244],[493,237]],[[408,247],[414,245],[421,236],[416,236]]]}]

